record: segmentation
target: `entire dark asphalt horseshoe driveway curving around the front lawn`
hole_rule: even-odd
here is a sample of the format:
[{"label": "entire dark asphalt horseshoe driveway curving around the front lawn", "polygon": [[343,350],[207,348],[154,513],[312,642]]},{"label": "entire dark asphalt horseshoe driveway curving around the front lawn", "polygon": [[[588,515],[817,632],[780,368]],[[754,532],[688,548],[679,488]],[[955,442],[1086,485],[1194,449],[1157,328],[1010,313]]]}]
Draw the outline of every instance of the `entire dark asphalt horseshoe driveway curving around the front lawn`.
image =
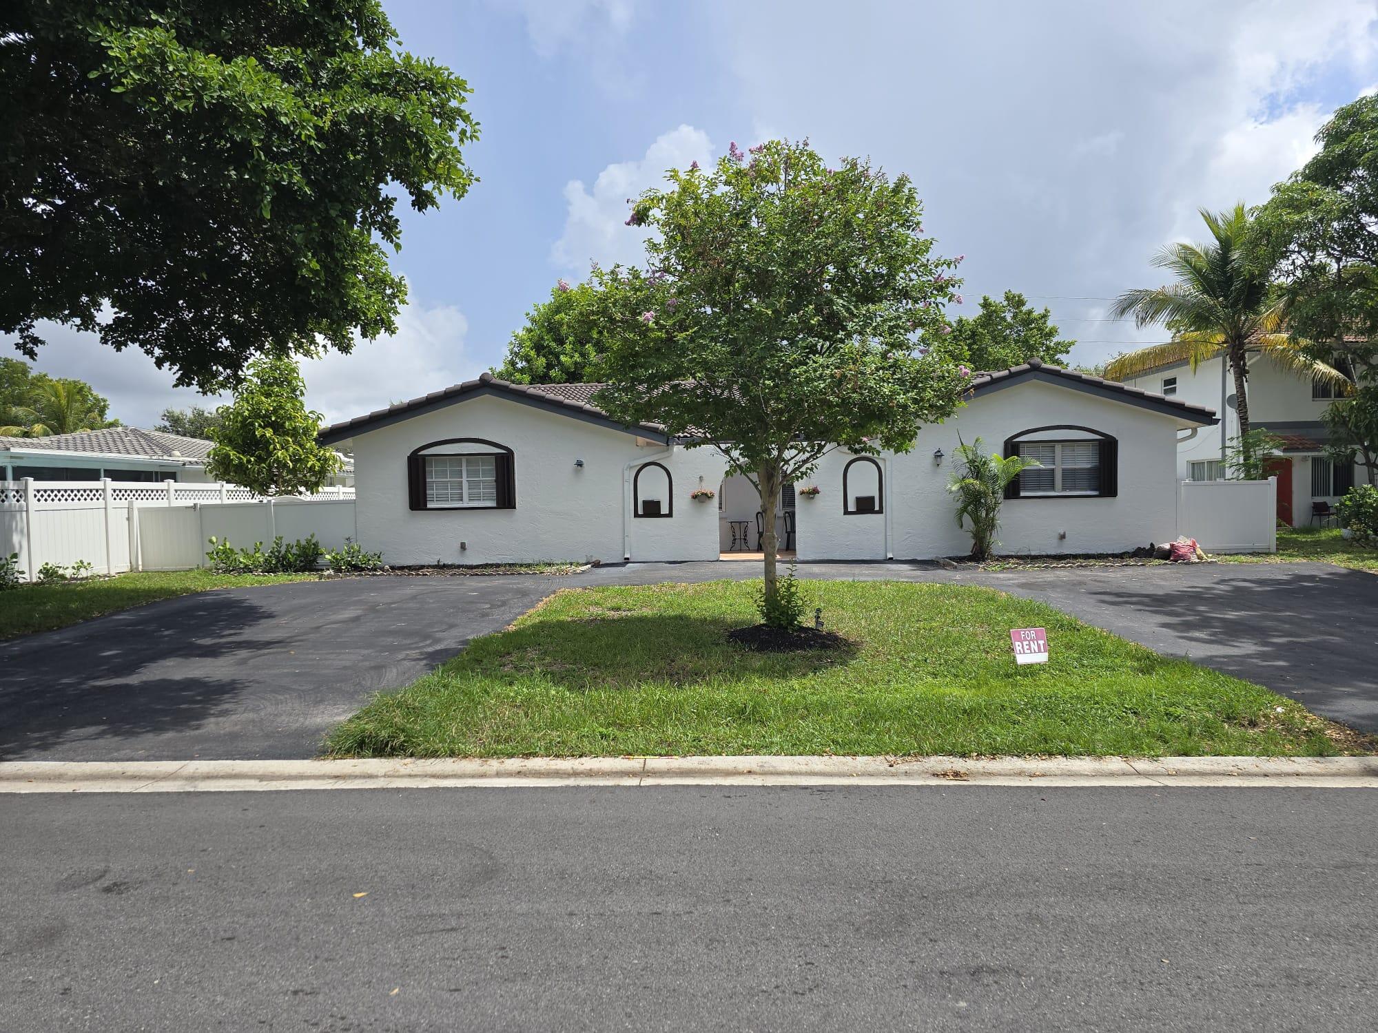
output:
[{"label": "entire dark asphalt horseshoe driveway curving around the front lawn", "polygon": [[[369,577],[222,589],[0,645],[0,759],[306,758],[559,587],[755,577],[642,563],[576,577]],[[801,577],[983,584],[1378,731],[1378,577],[1326,563],[999,573],[803,563]],[[1057,649],[1057,643],[1050,643]]]}]

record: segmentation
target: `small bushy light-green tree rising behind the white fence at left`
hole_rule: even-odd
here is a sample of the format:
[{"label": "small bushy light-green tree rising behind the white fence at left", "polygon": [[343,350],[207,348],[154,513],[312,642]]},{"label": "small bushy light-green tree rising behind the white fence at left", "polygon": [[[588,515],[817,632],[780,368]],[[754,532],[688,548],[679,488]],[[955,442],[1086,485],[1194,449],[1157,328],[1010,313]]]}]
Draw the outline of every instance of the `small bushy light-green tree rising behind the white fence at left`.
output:
[{"label": "small bushy light-green tree rising behind the white fence at left", "polygon": [[234,394],[215,410],[205,468],[259,494],[318,492],[339,456],[317,444],[321,415],[306,408],[306,383],[291,358],[259,358]]}]

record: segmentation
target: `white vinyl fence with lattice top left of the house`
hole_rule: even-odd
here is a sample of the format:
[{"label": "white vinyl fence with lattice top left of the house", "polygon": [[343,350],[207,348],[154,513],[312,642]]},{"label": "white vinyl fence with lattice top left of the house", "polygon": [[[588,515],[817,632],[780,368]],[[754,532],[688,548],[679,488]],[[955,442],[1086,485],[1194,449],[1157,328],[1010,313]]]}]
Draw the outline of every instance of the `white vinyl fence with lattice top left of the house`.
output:
[{"label": "white vinyl fence with lattice top left of the house", "polygon": [[[236,545],[252,547],[273,540],[271,533],[255,533],[247,540],[249,528],[278,526],[276,532],[285,540],[305,539],[313,530],[327,548],[335,548],[344,534],[353,536],[354,489],[327,488],[306,499],[258,499],[247,488],[225,483],[178,483],[164,481],[0,481],[0,556],[18,554],[19,573],[30,581],[44,563],[70,566],[77,561],[92,565],[95,573],[119,573],[139,567],[139,558],[158,561],[176,556],[172,566],[145,566],[145,569],[186,569],[205,559],[205,539],[229,534]],[[296,507],[324,503],[336,508],[327,511]],[[200,533],[197,510],[252,510],[266,515],[256,521],[247,518],[207,516],[207,530],[200,543],[192,543],[193,530]],[[282,518],[284,510],[291,515]],[[172,512],[161,525],[154,521],[146,532],[139,530],[141,518],[150,512]],[[347,512],[347,519],[344,516]],[[320,514],[320,528],[313,521]],[[194,518],[194,522],[193,522]],[[237,523],[230,521],[238,519]],[[342,526],[344,534],[338,534]],[[161,533],[169,536],[168,541]],[[175,537],[175,544],[172,539]],[[196,550],[196,555],[193,555]],[[185,561],[185,562],[183,562]]]}]

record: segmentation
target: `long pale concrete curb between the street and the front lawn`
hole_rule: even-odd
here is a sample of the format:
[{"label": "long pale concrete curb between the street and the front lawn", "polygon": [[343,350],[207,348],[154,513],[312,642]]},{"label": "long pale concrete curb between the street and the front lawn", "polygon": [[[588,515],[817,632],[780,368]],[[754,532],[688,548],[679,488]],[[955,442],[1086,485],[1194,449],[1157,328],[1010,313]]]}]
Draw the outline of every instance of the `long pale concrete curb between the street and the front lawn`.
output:
[{"label": "long pale concrete curb between the street and the front lawn", "polygon": [[557,785],[1024,785],[1378,789],[1378,758],[689,756],[0,763],[0,793],[535,788]]}]

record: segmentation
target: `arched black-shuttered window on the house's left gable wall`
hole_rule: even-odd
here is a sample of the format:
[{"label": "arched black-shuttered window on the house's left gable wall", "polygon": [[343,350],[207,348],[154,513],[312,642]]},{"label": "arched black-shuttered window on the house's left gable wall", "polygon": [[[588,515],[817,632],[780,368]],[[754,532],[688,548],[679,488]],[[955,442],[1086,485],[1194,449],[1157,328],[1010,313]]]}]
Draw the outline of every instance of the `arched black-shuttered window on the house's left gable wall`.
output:
[{"label": "arched black-shuttered window on the house's left gable wall", "polygon": [[513,450],[486,438],[445,438],[407,457],[412,510],[515,510]]}]

